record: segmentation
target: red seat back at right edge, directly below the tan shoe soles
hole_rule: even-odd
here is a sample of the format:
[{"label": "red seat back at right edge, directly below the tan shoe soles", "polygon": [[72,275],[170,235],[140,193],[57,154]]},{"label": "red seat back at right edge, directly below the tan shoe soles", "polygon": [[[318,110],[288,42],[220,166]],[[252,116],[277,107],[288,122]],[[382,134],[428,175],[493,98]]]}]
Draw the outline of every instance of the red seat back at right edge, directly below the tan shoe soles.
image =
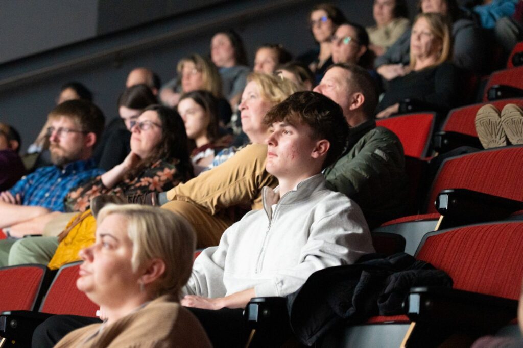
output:
[{"label": "red seat back at right edge, directly below the tan shoe soles", "polygon": [[[447,188],[468,188],[486,194],[523,200],[523,147],[474,152],[444,162],[430,190],[429,202]],[[435,213],[429,203],[427,212]]]}]

